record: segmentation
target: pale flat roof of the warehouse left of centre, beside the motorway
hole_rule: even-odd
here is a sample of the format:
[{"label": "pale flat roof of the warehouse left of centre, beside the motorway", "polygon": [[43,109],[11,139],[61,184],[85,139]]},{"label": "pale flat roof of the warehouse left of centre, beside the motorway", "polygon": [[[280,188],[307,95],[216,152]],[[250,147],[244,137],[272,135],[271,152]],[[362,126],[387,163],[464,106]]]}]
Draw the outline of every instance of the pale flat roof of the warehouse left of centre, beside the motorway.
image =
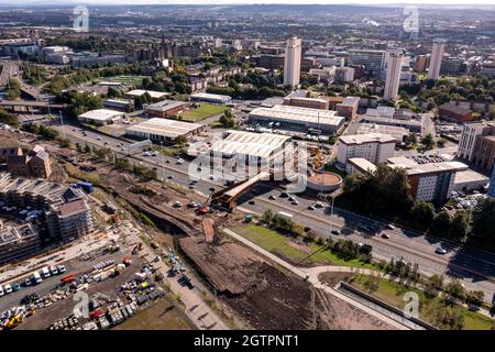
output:
[{"label": "pale flat roof of the warehouse left of centre, beside the motorway", "polygon": [[177,138],[202,128],[198,123],[189,123],[177,120],[153,118],[141,123],[131,125],[125,132],[139,132],[144,134],[155,134],[165,138]]}]

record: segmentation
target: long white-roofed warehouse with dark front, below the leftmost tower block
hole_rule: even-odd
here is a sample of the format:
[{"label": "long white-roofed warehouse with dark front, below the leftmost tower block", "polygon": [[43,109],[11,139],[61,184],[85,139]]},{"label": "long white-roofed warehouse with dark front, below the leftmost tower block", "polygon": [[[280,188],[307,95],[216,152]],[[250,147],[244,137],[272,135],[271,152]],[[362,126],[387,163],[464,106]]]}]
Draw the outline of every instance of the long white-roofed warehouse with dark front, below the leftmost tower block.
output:
[{"label": "long white-roofed warehouse with dark front, below the leftmost tower block", "polygon": [[278,129],[307,133],[339,133],[345,119],[337,111],[290,106],[256,108],[249,116],[250,123],[277,123]]}]

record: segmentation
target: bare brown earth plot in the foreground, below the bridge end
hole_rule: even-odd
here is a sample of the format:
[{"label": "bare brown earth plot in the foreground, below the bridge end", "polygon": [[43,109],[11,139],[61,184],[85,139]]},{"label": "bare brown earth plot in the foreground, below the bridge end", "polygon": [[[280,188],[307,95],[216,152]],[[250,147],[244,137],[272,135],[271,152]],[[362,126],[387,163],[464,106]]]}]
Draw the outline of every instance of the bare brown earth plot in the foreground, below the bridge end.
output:
[{"label": "bare brown earth plot in the foreground, below the bridge end", "polygon": [[220,299],[255,329],[391,329],[235,242],[211,246],[199,238],[185,238],[179,245]]}]

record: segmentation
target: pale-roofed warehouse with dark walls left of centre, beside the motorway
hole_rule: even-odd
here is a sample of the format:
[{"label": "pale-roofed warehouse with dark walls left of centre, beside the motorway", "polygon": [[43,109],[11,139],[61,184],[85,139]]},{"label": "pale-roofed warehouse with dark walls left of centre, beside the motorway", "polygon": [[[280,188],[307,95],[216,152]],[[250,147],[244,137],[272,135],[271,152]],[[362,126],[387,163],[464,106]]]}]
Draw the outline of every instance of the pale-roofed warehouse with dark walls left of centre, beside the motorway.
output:
[{"label": "pale-roofed warehouse with dark walls left of centre, beside the motorway", "polygon": [[190,136],[204,129],[201,124],[177,120],[153,118],[125,130],[125,135],[138,140],[151,140],[155,143],[175,143],[178,136]]}]

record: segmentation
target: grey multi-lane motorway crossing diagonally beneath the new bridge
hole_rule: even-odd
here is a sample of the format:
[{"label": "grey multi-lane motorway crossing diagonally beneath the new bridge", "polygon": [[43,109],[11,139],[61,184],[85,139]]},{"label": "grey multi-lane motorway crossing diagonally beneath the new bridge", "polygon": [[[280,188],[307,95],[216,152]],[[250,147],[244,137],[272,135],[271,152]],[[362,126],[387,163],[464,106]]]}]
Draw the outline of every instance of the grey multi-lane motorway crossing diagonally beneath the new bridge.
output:
[{"label": "grey multi-lane motorway crossing diagonally beneath the new bridge", "polygon": [[[86,131],[86,135],[82,135],[81,130],[76,127],[64,125],[56,128],[63,131],[62,133],[74,143],[79,142],[81,145],[87,143],[97,147],[109,147],[116,154],[120,155],[127,155],[127,146],[131,144],[91,131]],[[105,143],[108,144],[106,145]],[[117,146],[118,143],[123,144],[123,147]],[[130,157],[130,162],[156,168],[160,178],[170,180],[169,177],[173,177],[172,182],[186,187],[190,183],[187,162],[183,165],[177,165],[174,157],[163,155],[143,156],[142,154],[133,155]],[[216,189],[222,187],[223,183],[221,180],[206,178],[197,183],[195,191],[209,195],[211,187]],[[270,195],[273,195],[275,199],[268,199]],[[485,300],[488,302],[494,297],[494,254],[473,249],[458,248],[450,242],[424,237],[404,229],[385,230],[384,223],[340,209],[336,209],[334,215],[331,217],[330,207],[308,210],[308,206],[315,204],[315,199],[297,197],[299,205],[294,206],[286,198],[280,199],[279,195],[279,188],[274,189],[274,187],[260,184],[240,198],[239,206],[241,209],[253,213],[263,213],[265,209],[272,209],[274,212],[285,211],[293,213],[297,222],[310,227],[323,237],[337,238],[330,234],[331,228],[343,230],[339,238],[348,238],[355,242],[373,245],[373,253],[377,258],[388,261],[393,257],[395,260],[403,258],[406,262],[417,263],[420,272],[425,274],[459,277],[463,280],[468,289],[483,290],[485,293]],[[362,233],[356,230],[359,224],[373,224],[377,230],[374,234]],[[381,238],[382,232],[387,232],[391,238]],[[448,254],[439,255],[435,253],[435,249],[440,245],[449,251]]]}]

